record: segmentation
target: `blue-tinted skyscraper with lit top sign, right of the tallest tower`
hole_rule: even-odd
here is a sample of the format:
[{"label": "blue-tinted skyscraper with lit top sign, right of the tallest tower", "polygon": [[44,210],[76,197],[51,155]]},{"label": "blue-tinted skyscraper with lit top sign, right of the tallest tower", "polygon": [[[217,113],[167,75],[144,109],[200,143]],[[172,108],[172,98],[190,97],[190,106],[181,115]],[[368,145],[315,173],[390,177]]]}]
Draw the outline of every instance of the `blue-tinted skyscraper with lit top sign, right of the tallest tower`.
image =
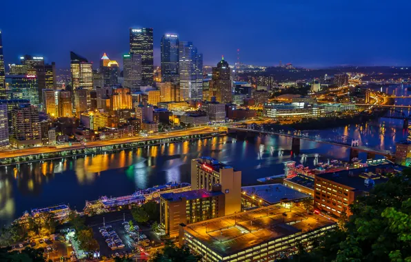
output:
[{"label": "blue-tinted skyscraper with lit top sign, right of the tallest tower", "polygon": [[179,37],[164,34],[161,37],[161,81],[179,83]]}]

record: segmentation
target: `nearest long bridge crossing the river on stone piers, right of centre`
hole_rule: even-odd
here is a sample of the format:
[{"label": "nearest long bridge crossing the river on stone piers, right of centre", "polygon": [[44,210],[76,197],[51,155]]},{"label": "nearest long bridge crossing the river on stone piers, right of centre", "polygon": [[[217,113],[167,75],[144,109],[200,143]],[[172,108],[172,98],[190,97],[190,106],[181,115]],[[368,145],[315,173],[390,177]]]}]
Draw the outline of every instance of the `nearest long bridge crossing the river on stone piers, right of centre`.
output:
[{"label": "nearest long bridge crossing the river on stone piers, right of centre", "polygon": [[358,157],[359,152],[367,152],[368,158],[371,159],[375,154],[383,155],[384,157],[393,157],[394,152],[390,150],[379,150],[375,148],[368,148],[363,145],[359,145],[359,141],[347,137],[343,134],[337,132],[330,132],[329,130],[292,130],[292,129],[282,129],[274,130],[274,128],[266,128],[261,125],[247,125],[247,126],[231,126],[228,128],[228,132],[237,133],[254,133],[254,134],[267,134],[276,135],[282,137],[292,138],[291,149],[293,154],[299,154],[300,152],[300,140],[314,141],[317,143],[327,143],[330,145],[338,145],[344,148],[350,148],[350,160]]}]

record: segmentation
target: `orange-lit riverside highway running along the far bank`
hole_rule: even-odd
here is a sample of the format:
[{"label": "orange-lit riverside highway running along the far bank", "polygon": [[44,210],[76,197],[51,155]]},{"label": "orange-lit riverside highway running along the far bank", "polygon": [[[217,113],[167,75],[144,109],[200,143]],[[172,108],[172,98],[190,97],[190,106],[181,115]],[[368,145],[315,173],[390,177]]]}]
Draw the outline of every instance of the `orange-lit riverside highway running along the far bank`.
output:
[{"label": "orange-lit riverside highway running along the far bank", "polygon": [[[222,131],[223,128],[219,128],[219,131]],[[65,150],[79,150],[85,148],[94,148],[99,146],[106,146],[106,145],[117,145],[121,143],[132,143],[132,142],[139,142],[139,141],[150,141],[153,139],[165,139],[171,137],[181,137],[190,134],[208,134],[215,132],[214,127],[209,126],[201,126],[197,128],[190,128],[186,130],[178,130],[172,131],[168,133],[162,134],[150,134],[148,137],[125,137],[121,139],[112,139],[112,140],[103,140],[103,141],[90,141],[87,142],[86,145],[64,145],[64,146],[57,146],[56,148],[50,147],[39,147],[39,148],[25,148],[20,150],[2,150],[0,152],[0,159],[10,158],[10,157],[25,157],[32,154],[44,154],[44,153],[54,153],[54,152],[61,152]]]}]

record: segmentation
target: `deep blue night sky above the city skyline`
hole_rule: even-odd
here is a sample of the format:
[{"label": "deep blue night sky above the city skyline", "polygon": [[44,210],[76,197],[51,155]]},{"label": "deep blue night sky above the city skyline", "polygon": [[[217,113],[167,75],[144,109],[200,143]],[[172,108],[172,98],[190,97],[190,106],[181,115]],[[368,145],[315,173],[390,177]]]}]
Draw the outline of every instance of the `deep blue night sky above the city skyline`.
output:
[{"label": "deep blue night sky above the city skyline", "polygon": [[277,66],[411,64],[411,1],[405,0],[3,0],[0,29],[6,63],[41,55],[68,68],[73,50],[98,64],[120,61],[130,27],[154,29],[154,63],[166,32],[193,41],[204,64]]}]

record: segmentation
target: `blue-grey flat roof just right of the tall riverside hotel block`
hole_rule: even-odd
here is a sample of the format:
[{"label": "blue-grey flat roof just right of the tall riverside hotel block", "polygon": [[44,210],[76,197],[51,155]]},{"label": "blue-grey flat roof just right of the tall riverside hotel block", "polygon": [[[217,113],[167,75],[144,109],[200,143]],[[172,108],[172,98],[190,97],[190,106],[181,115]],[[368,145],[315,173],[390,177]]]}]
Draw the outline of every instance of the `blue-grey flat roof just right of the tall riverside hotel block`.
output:
[{"label": "blue-grey flat roof just right of the tall riverside hotel block", "polygon": [[281,184],[243,186],[241,187],[241,192],[248,196],[255,196],[257,199],[262,199],[270,205],[280,203],[281,199],[297,200],[305,199],[309,196],[308,194],[301,193]]}]

